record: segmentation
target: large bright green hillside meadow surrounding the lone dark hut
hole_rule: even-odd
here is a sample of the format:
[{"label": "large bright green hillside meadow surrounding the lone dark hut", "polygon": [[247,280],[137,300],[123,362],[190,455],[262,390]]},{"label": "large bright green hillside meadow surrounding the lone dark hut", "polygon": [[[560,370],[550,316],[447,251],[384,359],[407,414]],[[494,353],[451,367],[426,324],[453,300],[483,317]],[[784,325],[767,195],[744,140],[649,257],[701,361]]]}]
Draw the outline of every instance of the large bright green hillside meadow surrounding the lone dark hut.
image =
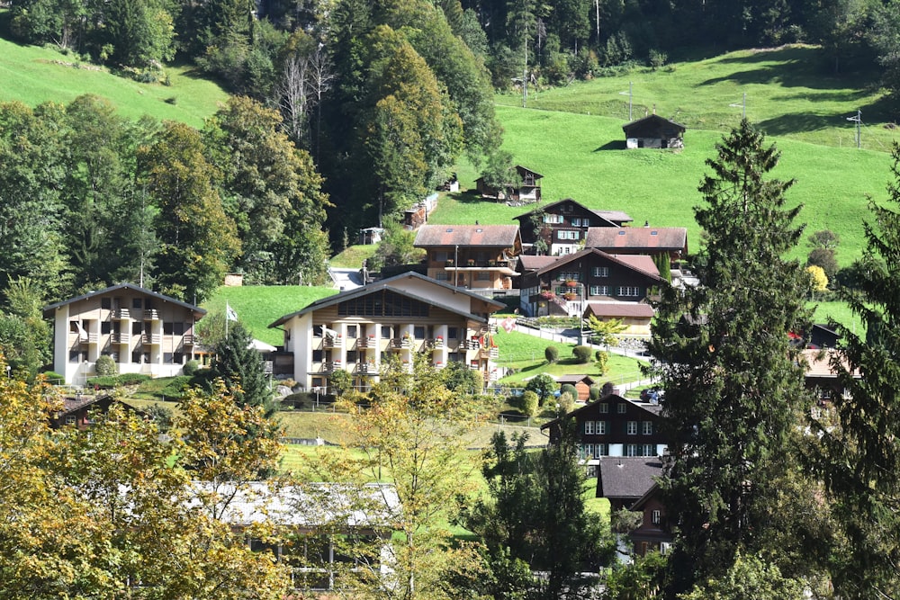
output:
[{"label": "large bright green hillside meadow surrounding the lone dark hut", "polygon": [[[802,204],[797,220],[807,232],[831,229],[841,236],[842,266],[860,256],[862,221],[869,198],[887,197],[891,143],[900,130],[887,123],[887,105],[862,80],[821,71],[822,52],[790,47],[744,50],[671,70],[638,69],[617,77],[576,82],[529,95],[496,96],[505,133],[503,148],[516,163],[544,175],[544,201],[571,197],[595,210],[624,210],[640,226],[689,229],[689,250],[698,249],[693,207],[702,198],[698,185],[709,173],[706,161],[716,143],[741,119],[743,93],[747,117],[781,151],[770,174],[794,179],[788,204]],[[644,109],[688,127],[685,148],[625,150],[622,125],[628,121],[628,85],[633,85],[633,117]],[[626,95],[621,95],[621,92]],[[729,106],[730,103],[738,105]],[[862,148],[854,141],[847,116],[862,111]],[[471,190],[479,176],[471,165],[458,170],[461,193],[446,194],[430,220],[436,223],[514,223],[534,206],[509,207],[481,201]],[[808,249],[800,246],[797,258]]]}]

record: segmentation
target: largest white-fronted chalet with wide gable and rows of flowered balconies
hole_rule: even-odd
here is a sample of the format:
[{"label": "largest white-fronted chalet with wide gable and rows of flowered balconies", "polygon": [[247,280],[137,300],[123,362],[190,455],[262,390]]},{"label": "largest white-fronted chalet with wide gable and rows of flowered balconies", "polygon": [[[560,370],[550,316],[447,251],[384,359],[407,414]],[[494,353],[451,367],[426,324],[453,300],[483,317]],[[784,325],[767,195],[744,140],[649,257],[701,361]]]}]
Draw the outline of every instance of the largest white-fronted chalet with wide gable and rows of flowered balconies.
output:
[{"label": "largest white-fronted chalet with wide gable and rows of flowered balconies", "polygon": [[[496,379],[492,359],[499,349],[488,327],[491,313],[505,305],[419,273],[403,273],[316,300],[269,327],[284,330],[284,353],[293,357],[294,381],[326,391],[334,372],[353,376],[359,390],[379,380],[382,363],[395,356],[411,365],[428,354],[434,366],[464,363]],[[284,374],[283,371],[276,374]]]}]

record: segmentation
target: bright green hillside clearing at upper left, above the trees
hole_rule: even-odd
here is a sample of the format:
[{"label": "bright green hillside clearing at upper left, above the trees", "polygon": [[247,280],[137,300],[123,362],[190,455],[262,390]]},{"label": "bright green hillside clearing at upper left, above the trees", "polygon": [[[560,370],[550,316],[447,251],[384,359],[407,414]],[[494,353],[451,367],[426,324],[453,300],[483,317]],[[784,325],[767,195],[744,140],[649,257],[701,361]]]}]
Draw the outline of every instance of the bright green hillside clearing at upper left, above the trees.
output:
[{"label": "bright green hillside clearing at upper left, above the trees", "polygon": [[81,94],[112,102],[131,119],[150,115],[201,127],[228,94],[202,78],[193,67],[166,67],[170,85],[141,84],[112,75],[102,67],[81,64],[72,55],[49,48],[23,46],[0,39],[0,102],[69,103]]}]

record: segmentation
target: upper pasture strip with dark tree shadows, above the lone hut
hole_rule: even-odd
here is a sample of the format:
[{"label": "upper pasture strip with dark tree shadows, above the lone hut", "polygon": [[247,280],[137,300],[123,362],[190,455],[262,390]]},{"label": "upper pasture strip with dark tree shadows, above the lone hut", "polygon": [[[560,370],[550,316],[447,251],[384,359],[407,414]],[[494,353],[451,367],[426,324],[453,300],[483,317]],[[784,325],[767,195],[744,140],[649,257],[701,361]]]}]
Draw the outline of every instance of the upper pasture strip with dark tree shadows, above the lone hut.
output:
[{"label": "upper pasture strip with dark tree shadows, above the lone hut", "polygon": [[[769,135],[824,146],[855,147],[854,123],[846,118],[861,110],[862,147],[883,151],[897,137],[895,130],[884,127],[896,117],[882,91],[873,89],[869,81],[868,73],[835,76],[822,49],[785,46],[739,50],[657,71],[642,67],[621,76],[575,82],[529,94],[527,106],[625,123],[630,85],[633,120],[655,107],[657,114],[685,125],[686,139],[690,139],[696,130],[734,128],[741,120],[746,94],[747,118]],[[496,101],[522,106],[521,94],[500,95]]]}]

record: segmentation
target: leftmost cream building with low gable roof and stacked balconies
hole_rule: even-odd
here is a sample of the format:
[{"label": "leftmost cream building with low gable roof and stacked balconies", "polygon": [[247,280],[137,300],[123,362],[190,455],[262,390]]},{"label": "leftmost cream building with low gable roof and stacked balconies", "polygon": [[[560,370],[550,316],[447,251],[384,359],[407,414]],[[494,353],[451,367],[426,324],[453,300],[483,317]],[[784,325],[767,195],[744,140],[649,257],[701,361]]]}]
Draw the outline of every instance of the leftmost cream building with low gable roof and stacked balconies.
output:
[{"label": "leftmost cream building with low gable roof and stacked balconies", "polygon": [[131,283],[50,304],[43,312],[53,321],[53,371],[75,385],[85,384],[103,354],[112,356],[120,373],[180,375],[199,349],[194,325],[206,314]]}]

